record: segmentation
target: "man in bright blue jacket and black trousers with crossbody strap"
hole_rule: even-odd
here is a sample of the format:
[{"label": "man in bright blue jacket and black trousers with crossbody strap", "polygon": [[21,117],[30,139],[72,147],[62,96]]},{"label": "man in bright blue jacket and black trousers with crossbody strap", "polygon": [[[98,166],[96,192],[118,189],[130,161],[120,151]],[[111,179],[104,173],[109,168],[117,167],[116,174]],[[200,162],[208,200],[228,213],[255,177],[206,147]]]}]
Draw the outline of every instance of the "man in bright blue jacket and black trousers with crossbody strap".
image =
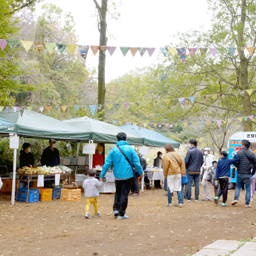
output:
[{"label": "man in bright blue jacket and black trousers with crossbody strap", "polygon": [[[134,165],[139,175],[141,175],[141,178],[143,177],[143,169],[140,165],[140,161],[135,149],[127,142],[126,134],[118,133],[116,137],[117,147],[114,147],[106,158],[99,180],[102,181],[110,166],[114,164],[113,173],[115,176],[116,185],[115,201],[113,205],[114,217],[117,217],[117,219],[128,219],[129,217],[124,214],[127,208],[132,178],[134,176],[130,163]],[[118,146],[121,148],[124,155],[129,159],[130,163],[125,159]]]}]

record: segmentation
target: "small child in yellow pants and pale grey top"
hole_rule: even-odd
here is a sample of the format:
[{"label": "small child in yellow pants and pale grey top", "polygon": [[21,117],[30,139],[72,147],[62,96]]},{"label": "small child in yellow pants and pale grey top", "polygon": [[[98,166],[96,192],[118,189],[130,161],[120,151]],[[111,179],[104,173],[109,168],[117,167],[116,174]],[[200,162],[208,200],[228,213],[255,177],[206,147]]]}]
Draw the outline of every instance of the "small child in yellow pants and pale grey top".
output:
[{"label": "small child in yellow pants and pale grey top", "polygon": [[102,186],[103,182],[98,181],[96,177],[96,170],[89,169],[87,172],[88,179],[83,182],[84,196],[86,197],[86,214],[84,215],[87,219],[91,219],[89,214],[90,206],[94,206],[94,217],[100,216],[100,211],[98,211],[98,196],[99,188]]}]

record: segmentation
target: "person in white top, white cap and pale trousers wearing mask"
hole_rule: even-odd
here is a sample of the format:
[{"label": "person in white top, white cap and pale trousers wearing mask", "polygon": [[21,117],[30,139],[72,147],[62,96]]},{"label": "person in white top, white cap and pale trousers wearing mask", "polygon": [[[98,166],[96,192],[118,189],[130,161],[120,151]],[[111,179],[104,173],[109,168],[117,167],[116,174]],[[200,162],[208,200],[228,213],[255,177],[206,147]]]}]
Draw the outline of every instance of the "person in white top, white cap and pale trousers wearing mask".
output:
[{"label": "person in white top, white cap and pale trousers wearing mask", "polygon": [[208,182],[208,175],[210,174],[210,170],[212,167],[212,162],[215,160],[215,156],[210,154],[210,148],[205,147],[204,148],[204,163],[201,168],[201,175],[203,175],[202,183],[203,188],[204,188],[204,199],[203,201],[211,201],[210,198],[210,189],[209,189],[209,182]]}]

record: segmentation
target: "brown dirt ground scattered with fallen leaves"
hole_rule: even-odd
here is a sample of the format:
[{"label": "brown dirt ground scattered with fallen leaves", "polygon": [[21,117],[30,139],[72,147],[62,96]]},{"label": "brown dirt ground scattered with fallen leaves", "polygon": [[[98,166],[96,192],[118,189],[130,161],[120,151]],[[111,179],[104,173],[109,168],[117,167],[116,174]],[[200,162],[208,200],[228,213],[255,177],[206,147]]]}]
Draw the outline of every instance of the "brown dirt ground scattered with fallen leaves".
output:
[{"label": "brown dirt ground scattered with fallen leaves", "polygon": [[[141,197],[129,197],[130,219],[117,220],[114,194],[99,196],[101,217],[92,219],[84,218],[84,197],[11,206],[10,194],[0,194],[0,255],[193,255],[218,239],[255,237],[256,202],[245,208],[243,190],[239,203],[231,206],[233,196],[229,190],[227,207],[192,200],[170,208],[163,189],[145,190]],[[177,194],[173,201],[178,201]]]}]

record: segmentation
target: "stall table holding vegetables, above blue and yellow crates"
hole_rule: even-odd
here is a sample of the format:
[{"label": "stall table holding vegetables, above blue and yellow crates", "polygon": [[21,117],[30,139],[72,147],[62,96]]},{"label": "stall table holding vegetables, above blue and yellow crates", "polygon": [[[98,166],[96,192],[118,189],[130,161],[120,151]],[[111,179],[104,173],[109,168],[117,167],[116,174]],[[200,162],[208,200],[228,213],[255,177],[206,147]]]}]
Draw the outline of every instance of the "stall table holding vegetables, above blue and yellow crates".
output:
[{"label": "stall table holding vegetables, above blue and yellow crates", "polygon": [[[67,179],[69,184],[70,184],[70,176],[71,173],[65,173],[65,174],[60,174],[60,179],[62,177],[62,179]],[[28,187],[27,187],[27,200],[26,202],[28,203],[28,198],[29,198],[29,183],[32,181],[37,181],[38,180],[38,175],[25,175],[25,174],[16,174],[17,177],[17,188],[18,188],[18,183],[20,181],[26,181],[28,182]],[[46,174],[44,175],[44,181],[45,180],[55,180],[55,174]],[[17,200],[17,195],[16,195],[16,200]]]}]

